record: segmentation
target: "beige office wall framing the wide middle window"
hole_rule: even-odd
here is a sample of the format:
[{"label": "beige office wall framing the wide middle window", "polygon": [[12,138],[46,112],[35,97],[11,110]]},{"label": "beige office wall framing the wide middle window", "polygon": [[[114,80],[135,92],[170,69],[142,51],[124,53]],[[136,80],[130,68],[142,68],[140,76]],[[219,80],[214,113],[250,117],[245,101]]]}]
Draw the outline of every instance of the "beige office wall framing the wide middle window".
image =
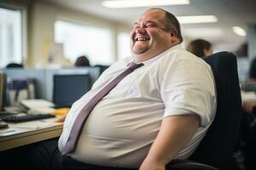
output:
[{"label": "beige office wall framing the wide middle window", "polygon": [[45,66],[48,63],[49,45],[54,42],[55,20],[67,20],[84,25],[110,28],[113,31],[113,60],[117,59],[118,31],[129,32],[131,28],[131,26],[125,26],[112,20],[62,8],[51,3],[35,2],[31,4],[28,10],[29,46],[26,64],[29,67]]}]

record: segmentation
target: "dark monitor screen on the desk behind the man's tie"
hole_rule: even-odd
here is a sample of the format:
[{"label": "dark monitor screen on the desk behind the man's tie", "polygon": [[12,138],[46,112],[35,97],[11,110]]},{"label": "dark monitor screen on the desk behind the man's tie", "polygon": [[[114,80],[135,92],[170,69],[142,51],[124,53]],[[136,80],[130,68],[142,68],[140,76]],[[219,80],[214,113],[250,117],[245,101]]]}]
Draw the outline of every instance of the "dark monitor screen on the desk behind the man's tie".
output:
[{"label": "dark monitor screen on the desk behind the man's tie", "polygon": [[53,102],[57,107],[70,107],[90,90],[90,75],[54,75]]}]

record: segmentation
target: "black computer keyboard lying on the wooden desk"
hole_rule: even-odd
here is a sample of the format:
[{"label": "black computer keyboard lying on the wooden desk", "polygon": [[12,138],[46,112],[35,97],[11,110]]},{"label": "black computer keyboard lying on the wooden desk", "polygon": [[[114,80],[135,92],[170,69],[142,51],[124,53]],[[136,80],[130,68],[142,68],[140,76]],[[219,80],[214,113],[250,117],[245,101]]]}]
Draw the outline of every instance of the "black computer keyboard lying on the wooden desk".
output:
[{"label": "black computer keyboard lying on the wooden desk", "polygon": [[42,115],[25,115],[25,116],[5,116],[2,118],[4,122],[29,122],[29,121],[36,121],[40,119],[52,118],[55,117],[54,115],[50,114],[42,114]]}]

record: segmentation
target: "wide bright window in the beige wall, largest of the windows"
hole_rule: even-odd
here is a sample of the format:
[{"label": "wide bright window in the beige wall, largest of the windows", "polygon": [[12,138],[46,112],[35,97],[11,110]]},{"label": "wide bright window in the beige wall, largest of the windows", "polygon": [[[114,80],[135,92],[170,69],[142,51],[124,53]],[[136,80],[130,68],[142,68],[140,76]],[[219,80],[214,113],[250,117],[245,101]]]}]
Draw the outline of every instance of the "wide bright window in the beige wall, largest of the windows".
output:
[{"label": "wide bright window in the beige wall, largest of the windows", "polygon": [[112,64],[112,39],[108,28],[55,21],[55,42],[63,44],[64,56],[73,62],[80,55],[86,55],[91,65]]}]

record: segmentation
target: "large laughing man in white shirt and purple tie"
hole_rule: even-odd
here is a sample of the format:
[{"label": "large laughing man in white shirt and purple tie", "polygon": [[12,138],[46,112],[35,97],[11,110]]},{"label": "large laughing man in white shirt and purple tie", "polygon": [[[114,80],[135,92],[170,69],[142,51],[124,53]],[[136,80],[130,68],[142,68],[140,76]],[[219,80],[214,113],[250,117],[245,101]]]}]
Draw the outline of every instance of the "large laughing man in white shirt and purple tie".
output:
[{"label": "large laughing man in white shirt and purple tie", "polygon": [[[131,31],[132,57],[111,65],[73,104],[59,139],[62,156],[58,149],[54,156],[47,152],[52,159],[34,169],[62,163],[67,169],[164,170],[173,159],[187,159],[207,133],[217,101],[211,67],[184,50],[181,42],[174,15],[161,8],[143,13]],[[93,107],[74,150],[67,151],[80,111],[85,114],[102,88],[131,70],[131,62],[140,67]],[[47,159],[41,160],[33,156],[30,161]]]}]

